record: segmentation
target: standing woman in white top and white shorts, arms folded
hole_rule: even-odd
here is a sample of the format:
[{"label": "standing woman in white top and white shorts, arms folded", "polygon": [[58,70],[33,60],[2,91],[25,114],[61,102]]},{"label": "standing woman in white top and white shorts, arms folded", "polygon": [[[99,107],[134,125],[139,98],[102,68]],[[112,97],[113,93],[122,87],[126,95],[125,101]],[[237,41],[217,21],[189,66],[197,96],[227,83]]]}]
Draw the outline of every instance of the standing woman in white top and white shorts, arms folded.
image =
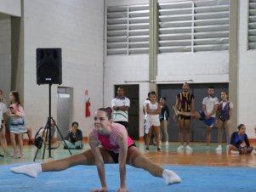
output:
[{"label": "standing woman in white top and white shorts, arms folded", "polygon": [[161,113],[161,105],[156,102],[156,92],[151,92],[150,96],[150,102],[146,104],[145,107],[148,121],[150,122],[150,131],[146,138],[146,149],[149,150],[149,145],[151,141],[151,134],[154,130],[155,138],[156,138],[156,147],[157,151],[161,151],[160,149],[160,120],[159,120],[159,114]]}]

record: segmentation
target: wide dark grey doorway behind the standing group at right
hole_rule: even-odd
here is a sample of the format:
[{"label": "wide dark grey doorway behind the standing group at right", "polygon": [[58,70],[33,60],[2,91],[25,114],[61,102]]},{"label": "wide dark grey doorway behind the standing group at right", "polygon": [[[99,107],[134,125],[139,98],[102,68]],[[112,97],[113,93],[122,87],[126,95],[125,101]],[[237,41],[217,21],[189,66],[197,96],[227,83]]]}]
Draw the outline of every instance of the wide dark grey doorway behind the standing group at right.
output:
[{"label": "wide dark grey doorway behind the standing group at right", "polygon": [[[208,87],[214,87],[215,96],[220,100],[220,92],[222,90],[228,91],[228,83],[203,83],[203,84],[190,84],[190,93],[195,97],[195,110],[202,110],[202,99],[208,95]],[[176,96],[182,91],[182,84],[174,85],[158,85],[159,97],[166,97],[166,104],[170,110],[170,121],[168,125],[169,141],[179,141],[179,126],[178,122],[173,119],[174,110],[172,106],[175,104]],[[223,134],[223,142],[225,142],[225,132]],[[192,142],[205,142],[205,125],[203,121],[191,121],[191,141]],[[218,141],[218,128],[213,127],[212,142]]]}]

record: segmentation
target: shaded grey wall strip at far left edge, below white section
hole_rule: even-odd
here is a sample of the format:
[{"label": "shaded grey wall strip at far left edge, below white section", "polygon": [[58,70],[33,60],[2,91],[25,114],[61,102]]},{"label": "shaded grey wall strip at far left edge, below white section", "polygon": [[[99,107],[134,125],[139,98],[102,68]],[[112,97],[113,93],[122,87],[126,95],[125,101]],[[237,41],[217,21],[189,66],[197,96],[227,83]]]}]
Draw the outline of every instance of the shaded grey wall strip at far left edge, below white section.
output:
[{"label": "shaded grey wall strip at far left edge, below white section", "polygon": [[11,88],[11,21],[0,14],[0,89],[8,101]]}]

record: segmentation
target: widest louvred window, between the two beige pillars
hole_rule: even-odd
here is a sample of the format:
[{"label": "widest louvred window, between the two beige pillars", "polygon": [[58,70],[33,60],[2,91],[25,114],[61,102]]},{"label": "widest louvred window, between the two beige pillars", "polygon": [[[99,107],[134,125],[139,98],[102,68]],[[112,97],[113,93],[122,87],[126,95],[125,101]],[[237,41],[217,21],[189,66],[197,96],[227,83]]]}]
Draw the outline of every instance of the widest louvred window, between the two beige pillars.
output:
[{"label": "widest louvred window, between the two beige pillars", "polygon": [[229,0],[159,3],[159,53],[229,48]]}]

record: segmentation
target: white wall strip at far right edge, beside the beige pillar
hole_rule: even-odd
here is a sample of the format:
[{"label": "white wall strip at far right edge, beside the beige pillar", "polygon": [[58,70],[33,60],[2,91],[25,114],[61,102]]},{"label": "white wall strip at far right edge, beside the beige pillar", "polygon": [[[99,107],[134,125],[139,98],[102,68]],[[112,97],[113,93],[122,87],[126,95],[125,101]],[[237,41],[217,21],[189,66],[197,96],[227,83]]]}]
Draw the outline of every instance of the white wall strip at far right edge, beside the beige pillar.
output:
[{"label": "white wall strip at far right edge, beside the beige pillar", "polygon": [[247,1],[239,2],[238,23],[238,123],[247,127],[249,138],[255,138],[253,127],[256,126],[256,50],[247,50]]}]

